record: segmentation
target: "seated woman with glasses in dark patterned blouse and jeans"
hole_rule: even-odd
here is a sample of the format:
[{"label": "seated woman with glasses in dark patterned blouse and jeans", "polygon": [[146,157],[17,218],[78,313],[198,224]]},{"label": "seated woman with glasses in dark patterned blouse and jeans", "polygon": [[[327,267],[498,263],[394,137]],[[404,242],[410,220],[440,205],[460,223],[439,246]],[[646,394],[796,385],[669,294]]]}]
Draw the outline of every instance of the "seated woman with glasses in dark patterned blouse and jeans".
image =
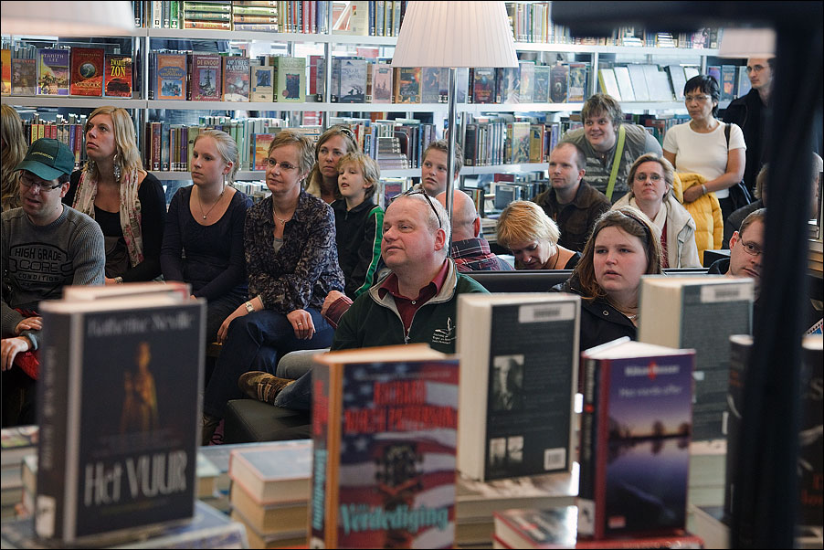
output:
[{"label": "seated woman with glasses in dark patterned blouse and jeans", "polygon": [[240,375],[275,374],[284,354],[332,344],[334,331],[321,307],[330,291],[343,292],[343,272],[332,208],[302,189],[313,163],[312,142],[300,133],[283,130],[269,145],[271,196],[249,208],[244,231],[249,299],[217,331],[223,349],[206,386],[203,444],[227,402],[245,397]]}]

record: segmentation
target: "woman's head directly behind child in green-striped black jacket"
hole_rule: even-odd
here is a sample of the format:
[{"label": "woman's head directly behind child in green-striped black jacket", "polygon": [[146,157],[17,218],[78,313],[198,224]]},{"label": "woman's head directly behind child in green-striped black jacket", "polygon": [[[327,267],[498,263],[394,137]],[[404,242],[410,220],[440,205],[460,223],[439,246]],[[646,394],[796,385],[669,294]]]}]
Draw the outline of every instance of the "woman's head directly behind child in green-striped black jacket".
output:
[{"label": "woman's head directly behind child in green-striped black jacket", "polygon": [[360,153],[354,133],[345,126],[333,126],[315,143],[315,164],[306,180],[306,192],[326,204],[343,198],[338,190],[338,161],[344,154]]}]

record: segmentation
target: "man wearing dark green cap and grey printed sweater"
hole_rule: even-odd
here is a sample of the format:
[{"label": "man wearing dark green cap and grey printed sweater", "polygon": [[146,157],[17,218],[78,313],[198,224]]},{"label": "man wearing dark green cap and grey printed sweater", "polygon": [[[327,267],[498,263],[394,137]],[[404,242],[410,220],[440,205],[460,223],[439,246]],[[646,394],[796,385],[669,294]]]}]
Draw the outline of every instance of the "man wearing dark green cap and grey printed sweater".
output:
[{"label": "man wearing dark green cap and grey printed sweater", "polygon": [[69,147],[37,140],[16,170],[22,206],[3,212],[0,244],[4,427],[36,421],[37,304],[60,298],[66,285],[103,284],[106,264],[100,226],[60,201],[74,170]]}]

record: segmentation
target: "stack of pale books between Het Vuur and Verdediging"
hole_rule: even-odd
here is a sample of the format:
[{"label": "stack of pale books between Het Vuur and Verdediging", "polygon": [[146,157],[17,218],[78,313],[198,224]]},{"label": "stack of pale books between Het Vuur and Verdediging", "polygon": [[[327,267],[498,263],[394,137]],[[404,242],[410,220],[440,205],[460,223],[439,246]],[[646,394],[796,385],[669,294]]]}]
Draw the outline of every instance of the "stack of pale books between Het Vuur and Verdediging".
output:
[{"label": "stack of pale books between Het Vuur and Verdediging", "polygon": [[229,455],[232,519],[245,524],[253,548],[305,545],[312,441],[238,447]]}]

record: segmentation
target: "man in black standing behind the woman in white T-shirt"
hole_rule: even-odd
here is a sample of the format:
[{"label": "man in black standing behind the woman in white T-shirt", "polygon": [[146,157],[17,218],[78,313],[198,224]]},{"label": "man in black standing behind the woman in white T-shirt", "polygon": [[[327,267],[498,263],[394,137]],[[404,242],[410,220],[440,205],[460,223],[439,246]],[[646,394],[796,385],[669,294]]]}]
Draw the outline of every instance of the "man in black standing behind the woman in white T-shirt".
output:
[{"label": "man in black standing behind the woman in white T-shirt", "polygon": [[773,66],[775,58],[749,58],[746,60],[746,74],[752,88],[745,95],[730,101],[724,111],[724,122],[738,124],[744,132],[746,143],[746,164],[744,183],[750,193],[755,194],[755,177],[766,162],[767,133],[770,91],[773,88]]}]

